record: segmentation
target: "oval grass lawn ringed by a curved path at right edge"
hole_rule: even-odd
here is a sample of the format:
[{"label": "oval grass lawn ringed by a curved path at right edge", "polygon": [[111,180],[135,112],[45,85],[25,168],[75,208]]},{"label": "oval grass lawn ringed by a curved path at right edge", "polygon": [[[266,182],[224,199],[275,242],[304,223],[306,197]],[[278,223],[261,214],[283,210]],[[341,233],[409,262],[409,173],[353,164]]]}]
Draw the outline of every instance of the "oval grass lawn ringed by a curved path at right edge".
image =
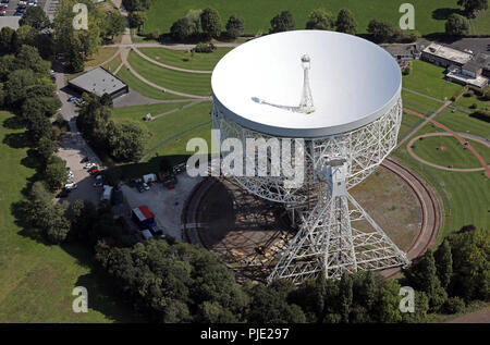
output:
[{"label": "oval grass lawn ringed by a curved path at right edge", "polygon": [[[474,140],[469,144],[481,155],[485,161],[490,162],[490,148]],[[440,150],[440,147],[443,150]],[[438,165],[454,168],[481,168],[478,159],[469,151],[464,149],[456,138],[449,136],[427,137],[415,143],[414,152],[421,159],[437,163]]]}]

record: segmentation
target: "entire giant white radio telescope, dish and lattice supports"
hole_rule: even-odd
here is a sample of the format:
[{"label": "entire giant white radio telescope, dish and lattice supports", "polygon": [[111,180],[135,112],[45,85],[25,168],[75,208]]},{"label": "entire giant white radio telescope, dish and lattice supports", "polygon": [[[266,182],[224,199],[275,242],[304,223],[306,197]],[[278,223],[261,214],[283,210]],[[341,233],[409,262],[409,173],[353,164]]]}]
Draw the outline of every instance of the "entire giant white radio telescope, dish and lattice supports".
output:
[{"label": "entire giant white radio telescope, dish and lattice supports", "polygon": [[402,76],[384,49],[326,30],[268,35],[224,56],[211,87],[212,127],[221,141],[305,143],[305,178],[297,187],[281,175],[233,176],[248,192],[282,202],[298,227],[268,282],[409,263],[348,193],[396,145]]}]

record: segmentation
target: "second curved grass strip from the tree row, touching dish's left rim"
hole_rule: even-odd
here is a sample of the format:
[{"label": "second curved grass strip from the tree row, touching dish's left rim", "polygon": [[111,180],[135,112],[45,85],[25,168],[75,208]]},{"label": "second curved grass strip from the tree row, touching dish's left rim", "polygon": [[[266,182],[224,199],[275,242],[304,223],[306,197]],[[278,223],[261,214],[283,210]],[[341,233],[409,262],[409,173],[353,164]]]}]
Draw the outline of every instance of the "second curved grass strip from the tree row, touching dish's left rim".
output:
[{"label": "second curved grass strip from the tree row, touching dish's left rim", "polygon": [[189,95],[211,95],[211,74],[186,73],[160,67],[134,51],[130,53],[127,61],[144,78],[161,87]]}]

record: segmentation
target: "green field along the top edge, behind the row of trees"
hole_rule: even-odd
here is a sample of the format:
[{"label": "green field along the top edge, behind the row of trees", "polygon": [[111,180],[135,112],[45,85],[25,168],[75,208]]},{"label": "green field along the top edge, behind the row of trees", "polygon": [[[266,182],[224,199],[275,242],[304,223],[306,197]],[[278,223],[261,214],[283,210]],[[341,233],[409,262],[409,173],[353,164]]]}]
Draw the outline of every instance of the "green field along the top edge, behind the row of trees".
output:
[{"label": "green field along the top edge, behind the row of trees", "polygon": [[[270,27],[270,20],[283,10],[290,10],[296,22],[296,28],[305,28],[309,13],[319,8],[323,8],[336,14],[341,9],[350,9],[358,23],[357,30],[363,34],[367,30],[370,20],[377,19],[388,21],[393,25],[399,25],[402,14],[399,12],[404,0],[155,0],[148,11],[148,21],[145,24],[145,32],[159,30],[170,32],[172,23],[186,15],[188,10],[205,9],[212,7],[221,15],[224,27],[228,17],[235,13],[245,21],[245,33],[257,34],[267,33]],[[444,22],[452,10],[460,9],[454,0],[413,0],[415,8],[415,29],[422,35],[430,33],[443,33]],[[478,25],[480,30],[490,28],[487,25]]]}]

